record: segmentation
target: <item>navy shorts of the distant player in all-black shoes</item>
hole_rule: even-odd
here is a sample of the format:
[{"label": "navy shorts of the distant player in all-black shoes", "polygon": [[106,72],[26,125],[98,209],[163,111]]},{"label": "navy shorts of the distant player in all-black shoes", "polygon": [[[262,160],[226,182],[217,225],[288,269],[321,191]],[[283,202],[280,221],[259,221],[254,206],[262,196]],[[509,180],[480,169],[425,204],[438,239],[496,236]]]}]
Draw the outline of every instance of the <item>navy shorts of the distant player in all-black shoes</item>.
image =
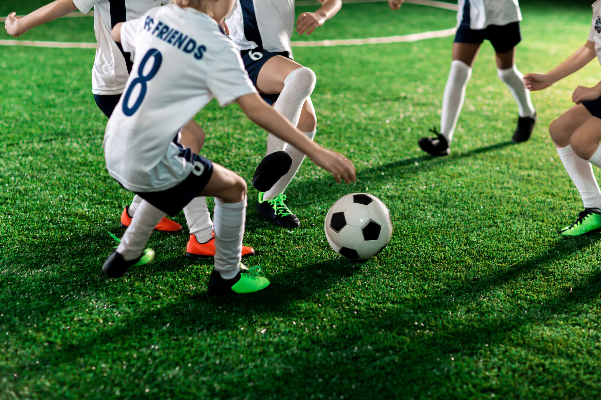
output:
[{"label": "navy shorts of the distant player in all-black shoes", "polygon": [[469,0],[465,0],[463,6],[463,19],[457,33],[455,34],[456,43],[483,43],[484,40],[490,41],[497,53],[506,53],[517,43],[522,41],[519,22],[511,22],[507,25],[489,25],[484,29],[471,29],[469,27]]}]

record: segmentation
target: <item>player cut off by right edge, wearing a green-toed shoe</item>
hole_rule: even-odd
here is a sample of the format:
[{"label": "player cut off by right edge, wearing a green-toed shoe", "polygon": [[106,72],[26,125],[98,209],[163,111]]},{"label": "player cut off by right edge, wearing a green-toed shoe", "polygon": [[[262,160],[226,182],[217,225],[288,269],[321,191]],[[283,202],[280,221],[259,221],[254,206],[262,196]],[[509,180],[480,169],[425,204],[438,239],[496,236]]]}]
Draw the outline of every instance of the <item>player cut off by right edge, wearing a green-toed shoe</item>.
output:
[{"label": "player cut off by right edge, wearing a green-toed shoe", "polygon": [[[542,90],[575,73],[597,57],[601,62],[601,2],[593,4],[593,20],[587,43],[566,61],[546,74],[524,76],[530,90]],[[572,94],[576,103],[551,123],[549,133],[567,174],[578,189],[584,211],[572,225],[561,229],[564,236],[582,235],[601,228],[601,191],[593,165],[601,168],[601,82],[592,88],[578,86]]]}]

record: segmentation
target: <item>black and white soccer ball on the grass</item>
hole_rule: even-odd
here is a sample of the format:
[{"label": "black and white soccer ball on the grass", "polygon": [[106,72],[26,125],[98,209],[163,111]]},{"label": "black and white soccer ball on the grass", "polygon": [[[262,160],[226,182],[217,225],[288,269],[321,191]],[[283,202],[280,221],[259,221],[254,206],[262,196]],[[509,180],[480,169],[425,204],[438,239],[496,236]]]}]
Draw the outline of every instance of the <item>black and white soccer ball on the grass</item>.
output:
[{"label": "black and white soccer ball on the grass", "polygon": [[367,193],[352,193],[330,207],[323,228],[335,252],[348,259],[367,259],[386,247],[392,235],[388,208]]}]

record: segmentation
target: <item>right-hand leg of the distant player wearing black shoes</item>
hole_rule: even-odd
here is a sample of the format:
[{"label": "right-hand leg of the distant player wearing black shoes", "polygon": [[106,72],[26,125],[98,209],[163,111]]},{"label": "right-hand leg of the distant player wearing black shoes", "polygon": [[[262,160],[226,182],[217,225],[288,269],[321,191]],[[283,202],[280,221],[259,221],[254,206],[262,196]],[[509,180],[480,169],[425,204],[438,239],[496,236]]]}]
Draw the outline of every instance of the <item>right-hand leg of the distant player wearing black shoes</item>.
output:
[{"label": "right-hand leg of the distant player wearing black shoes", "polygon": [[499,79],[507,85],[517,103],[519,118],[511,140],[514,143],[525,142],[532,135],[536,123],[536,110],[532,106],[530,91],[524,86],[523,74],[517,70],[515,64],[516,47],[508,52],[495,53],[495,59]]}]

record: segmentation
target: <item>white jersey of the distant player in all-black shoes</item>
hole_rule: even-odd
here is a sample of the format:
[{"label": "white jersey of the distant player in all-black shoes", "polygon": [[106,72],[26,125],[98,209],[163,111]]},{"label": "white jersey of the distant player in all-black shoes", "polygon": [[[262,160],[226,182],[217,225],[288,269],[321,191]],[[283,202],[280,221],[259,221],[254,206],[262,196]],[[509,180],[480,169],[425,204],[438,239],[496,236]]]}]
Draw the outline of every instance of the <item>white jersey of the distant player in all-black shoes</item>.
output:
[{"label": "white jersey of the distant player in all-black shoes", "polygon": [[522,20],[522,13],[517,0],[459,0],[457,13],[457,26],[463,20],[463,7],[469,1],[469,27],[471,29],[484,29],[489,25],[507,25],[511,22]]}]

